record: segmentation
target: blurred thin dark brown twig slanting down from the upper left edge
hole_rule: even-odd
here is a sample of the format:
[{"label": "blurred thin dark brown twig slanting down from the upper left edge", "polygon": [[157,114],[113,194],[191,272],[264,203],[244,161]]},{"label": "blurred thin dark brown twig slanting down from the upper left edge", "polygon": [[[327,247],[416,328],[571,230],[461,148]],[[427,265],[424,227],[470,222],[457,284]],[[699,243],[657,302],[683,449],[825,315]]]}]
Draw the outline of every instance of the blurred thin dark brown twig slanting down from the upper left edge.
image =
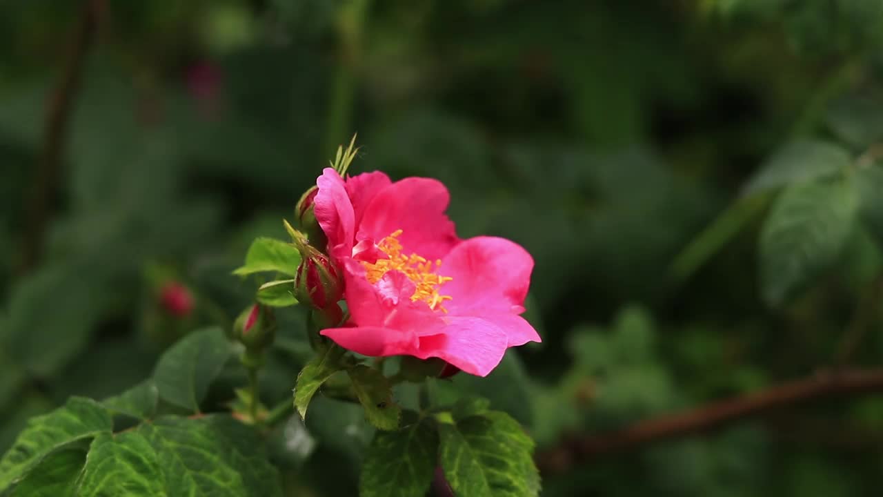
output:
[{"label": "blurred thin dark brown twig slanting down from the upper left edge", "polygon": [[29,199],[28,223],[22,241],[19,275],[33,269],[41,256],[51,204],[58,188],[67,125],[71,120],[73,102],[79,89],[86,55],[89,47],[92,46],[96,27],[104,10],[104,0],[86,0],[72,40],[65,44],[68,50],[67,60],[57,87],[49,97],[43,126],[42,152]]}]

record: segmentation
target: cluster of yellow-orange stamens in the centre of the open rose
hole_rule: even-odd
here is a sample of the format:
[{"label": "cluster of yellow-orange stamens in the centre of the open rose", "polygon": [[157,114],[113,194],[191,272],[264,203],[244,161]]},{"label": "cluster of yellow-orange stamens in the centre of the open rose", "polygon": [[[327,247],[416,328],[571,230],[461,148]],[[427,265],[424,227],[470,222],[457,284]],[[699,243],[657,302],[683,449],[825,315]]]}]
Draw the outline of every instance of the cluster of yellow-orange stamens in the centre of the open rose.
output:
[{"label": "cluster of yellow-orange stamens in the centre of the open rose", "polygon": [[398,241],[398,237],[401,234],[402,230],[396,230],[377,244],[377,248],[380,248],[384,254],[389,256],[389,259],[377,259],[377,262],[374,264],[362,262],[362,265],[367,270],[366,279],[374,285],[387,272],[402,271],[417,286],[414,294],[411,295],[411,302],[423,301],[429,304],[429,308],[432,310],[437,309],[442,310],[442,312],[448,312],[442,305],[442,302],[449,301],[452,297],[439,294],[439,287],[442,287],[442,285],[453,278],[439,276],[434,272],[442,265],[440,260],[433,263],[417,254],[411,254],[410,256],[402,254],[402,243]]}]

